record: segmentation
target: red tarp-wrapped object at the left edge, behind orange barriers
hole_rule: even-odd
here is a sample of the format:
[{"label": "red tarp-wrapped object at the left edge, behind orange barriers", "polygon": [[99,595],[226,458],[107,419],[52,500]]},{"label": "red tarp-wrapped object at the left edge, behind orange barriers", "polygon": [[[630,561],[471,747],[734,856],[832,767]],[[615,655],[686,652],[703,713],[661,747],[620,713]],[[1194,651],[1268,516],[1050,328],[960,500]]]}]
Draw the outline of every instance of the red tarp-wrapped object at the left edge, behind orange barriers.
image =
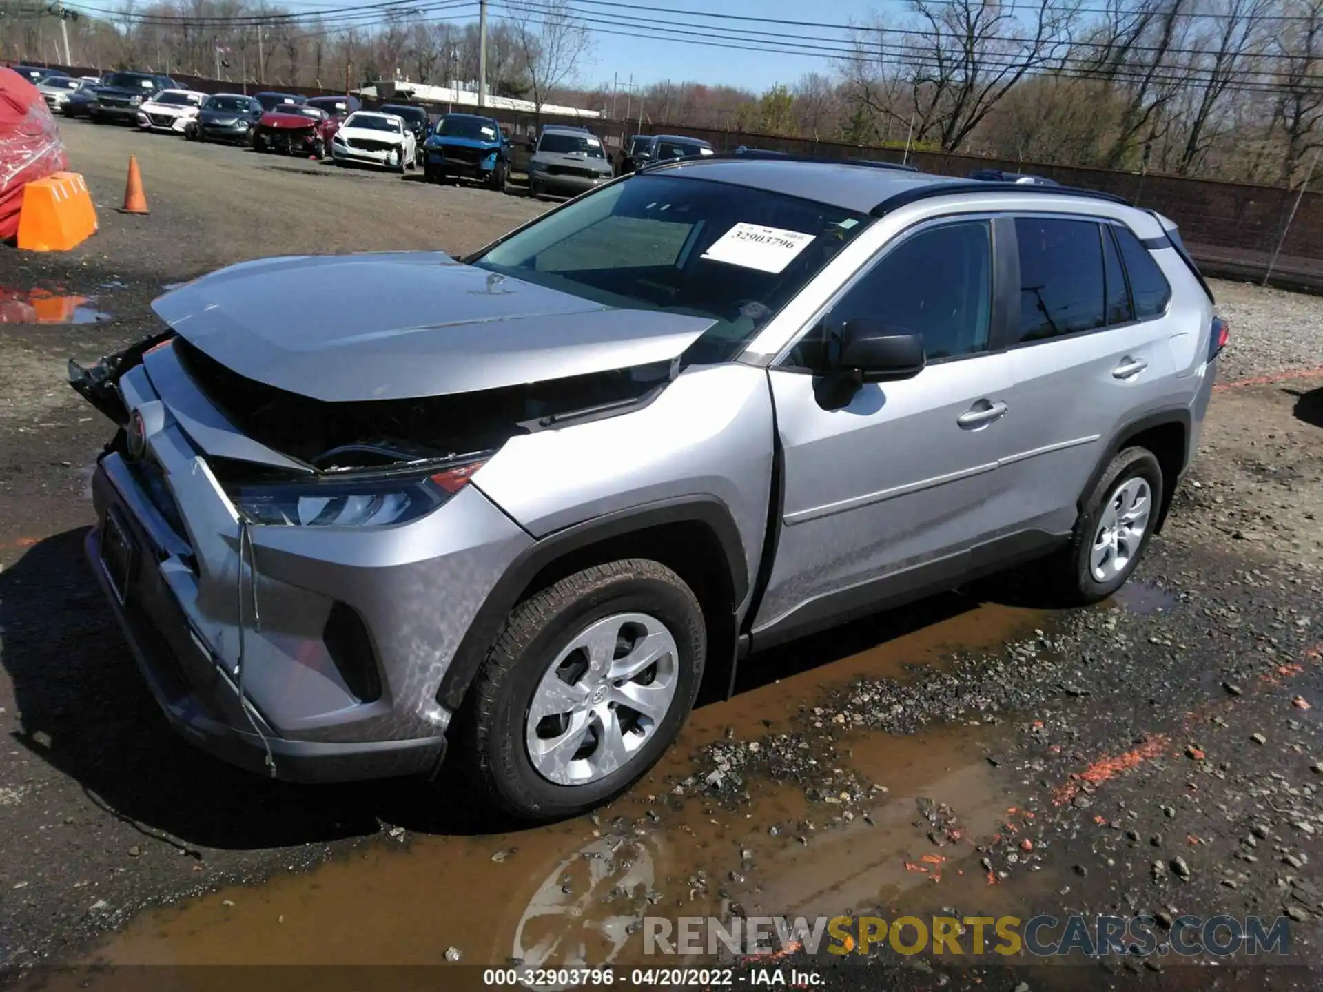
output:
[{"label": "red tarp-wrapped object at the left edge, behind orange barriers", "polygon": [[56,119],[37,87],[0,66],[0,241],[19,233],[22,188],[69,168]]}]

